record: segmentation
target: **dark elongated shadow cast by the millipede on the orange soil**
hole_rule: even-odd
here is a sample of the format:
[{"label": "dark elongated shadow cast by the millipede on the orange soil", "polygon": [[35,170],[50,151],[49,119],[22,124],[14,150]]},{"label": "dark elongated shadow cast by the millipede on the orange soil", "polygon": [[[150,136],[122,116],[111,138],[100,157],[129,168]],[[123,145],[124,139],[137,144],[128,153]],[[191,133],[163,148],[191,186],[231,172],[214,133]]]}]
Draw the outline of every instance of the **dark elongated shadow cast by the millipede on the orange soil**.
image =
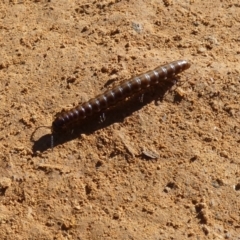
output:
[{"label": "dark elongated shadow cast by the millipede on the orange soil", "polygon": [[[178,78],[179,79],[179,78]],[[124,119],[130,116],[132,113],[140,110],[143,106],[149,104],[153,100],[162,101],[165,93],[171,89],[174,84],[171,81],[164,82],[162,86],[157,86],[157,90],[153,88],[149,88],[147,91],[144,91],[143,102],[139,101],[140,96],[142,96],[143,92],[139,92],[135,94],[130,99],[122,101],[116,106],[110,108],[109,110],[104,111],[106,119],[99,123],[99,119],[101,116],[101,112],[93,115],[92,117],[88,117],[86,120],[81,121],[79,126],[74,126],[70,131],[66,131],[64,133],[53,134],[54,138],[54,147],[58,145],[62,145],[65,142],[72,141],[84,133],[87,135],[92,134],[93,132],[106,128],[113,123],[123,122]],[[159,88],[158,88],[159,87]],[[35,131],[34,131],[35,132]],[[33,141],[33,153],[44,152],[48,149],[51,149],[51,134],[46,134],[39,138],[36,141]]]}]

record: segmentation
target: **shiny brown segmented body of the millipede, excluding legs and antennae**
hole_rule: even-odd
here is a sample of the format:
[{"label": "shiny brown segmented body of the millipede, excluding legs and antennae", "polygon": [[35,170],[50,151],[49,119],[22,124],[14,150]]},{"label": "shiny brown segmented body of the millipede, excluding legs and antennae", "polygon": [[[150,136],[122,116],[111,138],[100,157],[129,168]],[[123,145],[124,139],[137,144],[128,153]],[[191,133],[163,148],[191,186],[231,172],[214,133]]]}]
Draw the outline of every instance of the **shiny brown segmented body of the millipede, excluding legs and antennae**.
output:
[{"label": "shiny brown segmented body of the millipede, excluding legs and antennae", "polygon": [[171,79],[174,75],[188,69],[189,67],[190,63],[188,61],[178,60],[157,67],[152,71],[141,74],[140,76],[131,78],[119,86],[107,90],[103,94],[100,94],[69,111],[60,113],[52,123],[52,132],[61,132],[64,129],[68,129],[68,127],[72,126],[74,123],[79,122],[96,112],[107,109],[123,99],[131,97],[139,91],[158,84],[160,81]]}]

